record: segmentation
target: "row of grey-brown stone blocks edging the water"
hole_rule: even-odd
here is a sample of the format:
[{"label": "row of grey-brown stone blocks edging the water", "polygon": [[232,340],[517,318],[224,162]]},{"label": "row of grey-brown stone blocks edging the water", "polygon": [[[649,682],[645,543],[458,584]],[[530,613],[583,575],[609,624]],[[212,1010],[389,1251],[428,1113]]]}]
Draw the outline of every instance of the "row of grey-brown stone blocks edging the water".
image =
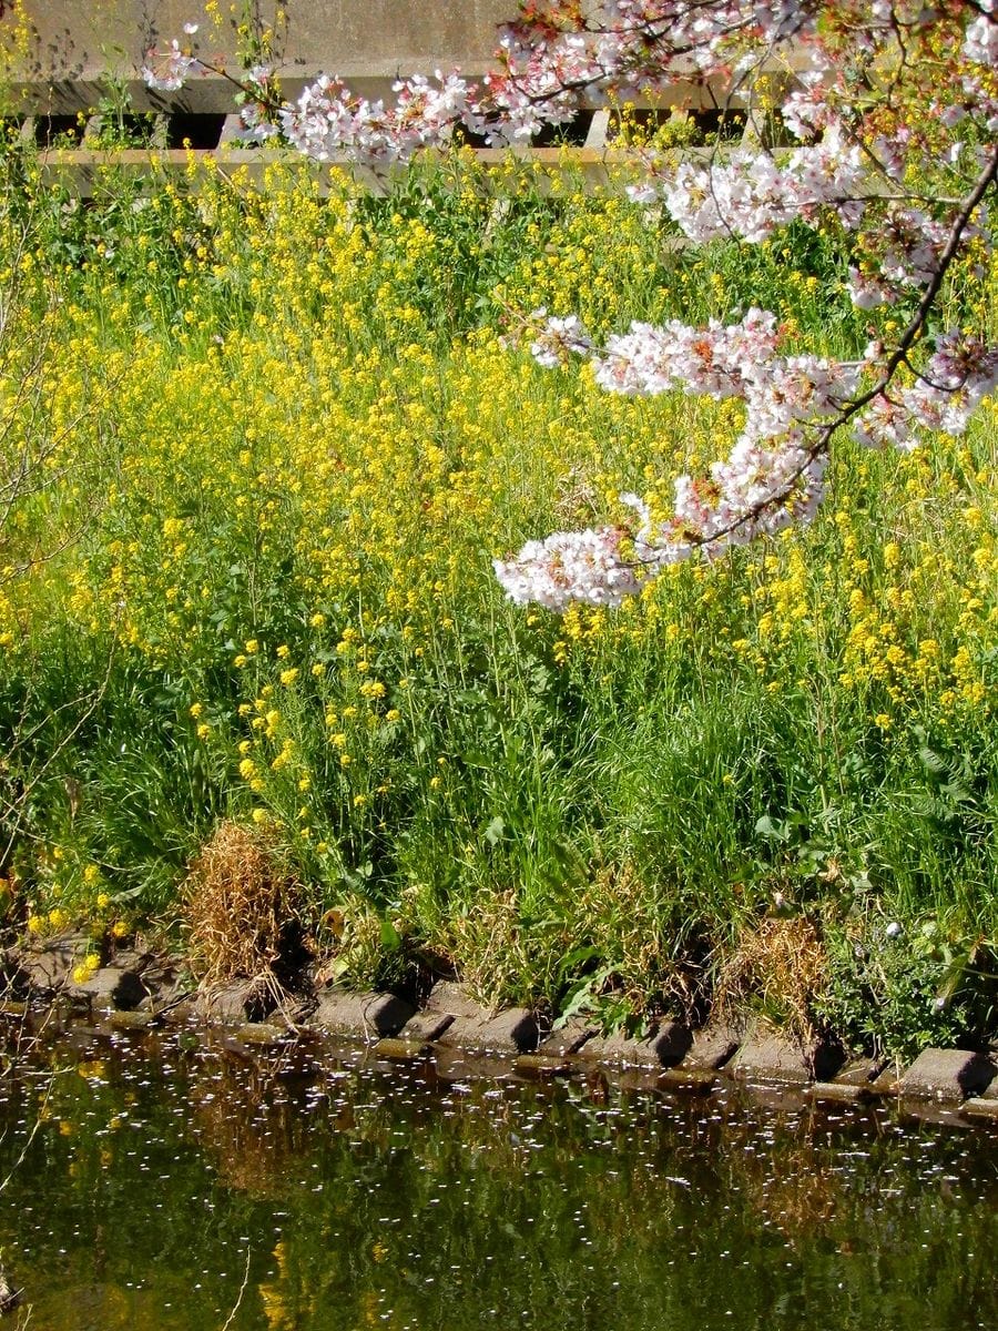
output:
[{"label": "row of grey-brown stone blocks edging the water", "polygon": [[0,954],[3,1008],[11,1013],[60,1002],[116,1030],[224,1025],[245,1045],[357,1040],[390,1059],[435,1054],[460,1077],[571,1075],[599,1066],[632,1087],[711,1094],[741,1085],[764,1098],[894,1099],[904,1114],[921,1119],[998,1125],[994,1051],[926,1049],[900,1067],[886,1059],[849,1058],[833,1044],[801,1049],[753,1024],[695,1030],[663,1020],[640,1038],[603,1036],[580,1018],[552,1026],[527,1008],[488,1010],[447,980],[436,981],[419,1004],[401,993],[335,986],[289,997],[261,981],[190,992],[169,961],[148,952],[120,952],[112,964],[81,972],[84,946],[85,940],[65,936]]}]

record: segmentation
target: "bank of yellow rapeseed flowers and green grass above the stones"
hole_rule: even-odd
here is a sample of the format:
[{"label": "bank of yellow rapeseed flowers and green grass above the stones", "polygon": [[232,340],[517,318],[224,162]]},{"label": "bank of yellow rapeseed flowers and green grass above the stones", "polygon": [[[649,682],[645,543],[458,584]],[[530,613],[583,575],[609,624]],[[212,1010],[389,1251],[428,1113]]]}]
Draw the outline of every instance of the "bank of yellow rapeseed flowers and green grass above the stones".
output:
[{"label": "bank of yellow rapeseed flowers and green grass above the stones", "polygon": [[[381,197],[218,164],[0,204],[0,800],[11,929],[178,937],[221,825],[330,976],[452,968],[635,1026],[737,1001],[914,1049],[998,985],[998,411],[842,438],[816,524],[620,610],[507,604],[531,536],[668,511],[731,403],[540,369],[732,319],[861,354],[842,237],[688,250],[621,182],[471,154]],[[993,319],[970,262],[947,317]],[[878,311],[889,337],[902,313]],[[994,334],[994,327],[990,329]]]}]

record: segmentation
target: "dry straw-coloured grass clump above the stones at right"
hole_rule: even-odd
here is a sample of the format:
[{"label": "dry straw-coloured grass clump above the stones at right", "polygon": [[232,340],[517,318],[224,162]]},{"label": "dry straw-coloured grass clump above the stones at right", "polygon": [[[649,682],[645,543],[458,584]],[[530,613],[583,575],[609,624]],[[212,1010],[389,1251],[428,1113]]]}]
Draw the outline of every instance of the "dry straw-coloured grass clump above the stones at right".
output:
[{"label": "dry straw-coloured grass clump above the stones at right", "polygon": [[828,974],[828,953],[810,920],[762,920],[721,968],[715,1012],[731,1021],[745,1009],[761,1009],[801,1047],[809,1047],[818,1034],[814,1001]]}]

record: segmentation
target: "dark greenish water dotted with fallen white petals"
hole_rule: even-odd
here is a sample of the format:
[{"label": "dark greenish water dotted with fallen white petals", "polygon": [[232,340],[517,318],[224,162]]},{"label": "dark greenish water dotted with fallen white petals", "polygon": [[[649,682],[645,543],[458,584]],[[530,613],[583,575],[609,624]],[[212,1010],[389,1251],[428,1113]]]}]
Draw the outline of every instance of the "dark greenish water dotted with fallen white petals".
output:
[{"label": "dark greenish water dotted with fallen white petals", "polygon": [[190,1032],[4,1067],[3,1326],[998,1326],[979,1127]]}]

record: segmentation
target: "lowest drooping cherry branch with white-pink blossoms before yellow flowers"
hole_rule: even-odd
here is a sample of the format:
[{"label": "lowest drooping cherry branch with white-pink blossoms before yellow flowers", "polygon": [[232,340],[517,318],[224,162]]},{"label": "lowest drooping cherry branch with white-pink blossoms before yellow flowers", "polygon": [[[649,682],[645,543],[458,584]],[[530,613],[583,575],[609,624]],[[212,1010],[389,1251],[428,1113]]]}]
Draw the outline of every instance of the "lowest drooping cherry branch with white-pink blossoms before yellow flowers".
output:
[{"label": "lowest drooping cherry branch with white-pink blossoms before yellow flowers", "polygon": [[[619,604],[667,564],[696,552],[713,558],[732,544],[772,535],[792,520],[810,520],[824,496],[832,441],[853,418],[857,437],[876,447],[910,447],[912,423],[959,433],[981,398],[998,383],[998,350],[959,333],[947,334],[917,371],[913,387],[904,389],[898,399],[889,398],[886,390],[902,365],[910,367],[909,353],[995,180],[998,148],[953,220],[913,318],[882,361],[877,382],[865,391],[852,391],[862,362],[830,366],[814,357],[777,357],[774,317],[760,310],[750,310],[741,325],[727,329],[715,323],[695,330],[676,321],[667,329],[632,325],[629,334],[611,338],[603,359],[595,355],[578,319],[548,319],[531,346],[542,365],[563,362],[568,354],[589,355],[596,382],[609,391],[651,395],[683,389],[716,398],[743,397],[747,423],[728,461],[712,467],[709,480],[677,479],[671,522],[653,526],[637,496],[621,495],[639,514],[636,532],[604,527],[528,542],[516,559],[495,560],[507,595],[552,610],[564,610],[574,600]],[[870,366],[874,357],[872,351]],[[846,398],[841,397],[844,389]],[[864,413],[866,407],[872,410]],[[817,425],[812,423],[816,415]]]}]

